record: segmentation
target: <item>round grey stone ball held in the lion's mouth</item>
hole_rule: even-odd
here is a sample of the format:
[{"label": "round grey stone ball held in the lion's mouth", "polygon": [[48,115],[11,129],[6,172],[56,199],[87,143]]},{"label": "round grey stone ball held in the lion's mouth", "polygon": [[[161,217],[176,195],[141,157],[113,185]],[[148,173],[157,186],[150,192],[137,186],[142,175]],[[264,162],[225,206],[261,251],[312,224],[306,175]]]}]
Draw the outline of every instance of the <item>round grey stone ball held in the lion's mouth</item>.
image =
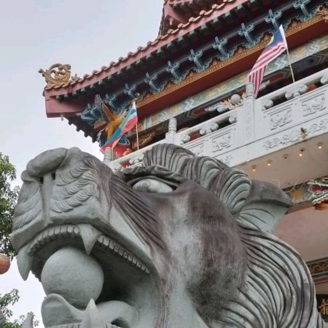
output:
[{"label": "round grey stone ball held in the lion's mouth", "polygon": [[91,299],[97,300],[104,284],[100,264],[77,248],[58,250],[46,261],[41,273],[46,295],[63,296],[71,305],[85,309]]}]

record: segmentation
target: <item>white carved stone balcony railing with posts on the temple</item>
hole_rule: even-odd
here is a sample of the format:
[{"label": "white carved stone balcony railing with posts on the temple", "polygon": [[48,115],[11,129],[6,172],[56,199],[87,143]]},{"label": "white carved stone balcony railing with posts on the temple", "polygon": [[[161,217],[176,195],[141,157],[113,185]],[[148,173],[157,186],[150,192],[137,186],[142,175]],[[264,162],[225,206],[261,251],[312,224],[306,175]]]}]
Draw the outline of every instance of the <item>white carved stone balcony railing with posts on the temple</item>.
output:
[{"label": "white carved stone balcony railing with posts on the temple", "polygon": [[[236,166],[328,132],[328,69],[259,99],[253,90],[248,84],[239,107],[190,129],[176,132],[171,118],[165,139],[156,144],[179,145]],[[104,161],[114,170],[140,165],[144,152],[156,144],[113,161],[107,154]]]}]

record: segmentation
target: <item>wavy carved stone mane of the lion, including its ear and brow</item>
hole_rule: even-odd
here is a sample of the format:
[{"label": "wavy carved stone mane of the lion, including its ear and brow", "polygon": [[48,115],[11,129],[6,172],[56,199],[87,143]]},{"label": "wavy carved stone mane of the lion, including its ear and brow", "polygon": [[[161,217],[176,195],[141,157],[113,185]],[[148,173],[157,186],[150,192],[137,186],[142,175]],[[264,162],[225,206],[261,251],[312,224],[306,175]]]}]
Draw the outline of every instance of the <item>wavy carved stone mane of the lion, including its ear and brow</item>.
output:
[{"label": "wavy carved stone mane of the lion, including its ear and brow", "polygon": [[201,312],[210,326],[211,322],[236,328],[324,326],[306,263],[293,248],[270,234],[291,205],[286,194],[270,183],[250,180],[244,172],[215,158],[197,157],[167,144],[148,150],[141,167],[124,173],[132,185],[147,176],[198,183],[221,200],[238,222],[247,262],[242,268],[244,281],[220,311],[211,301],[197,300],[208,304]]}]

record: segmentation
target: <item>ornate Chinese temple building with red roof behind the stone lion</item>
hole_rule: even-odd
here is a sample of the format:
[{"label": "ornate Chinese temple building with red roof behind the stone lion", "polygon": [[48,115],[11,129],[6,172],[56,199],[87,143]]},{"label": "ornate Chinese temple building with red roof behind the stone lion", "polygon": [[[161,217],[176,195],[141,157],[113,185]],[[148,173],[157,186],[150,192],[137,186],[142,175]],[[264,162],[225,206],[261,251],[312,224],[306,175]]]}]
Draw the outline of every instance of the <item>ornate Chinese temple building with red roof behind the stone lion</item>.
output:
[{"label": "ornate Chinese temple building with red roof behind the stone lion", "polygon": [[[271,61],[255,98],[247,76],[280,25],[290,59],[284,52]],[[47,116],[90,142],[115,129],[136,99],[138,140],[133,129],[105,150],[114,171],[170,142],[287,192],[294,206],[275,234],[308,262],[328,320],[328,211],[320,211],[328,203],[327,63],[325,0],[166,0],[157,38],[137,51],[81,78],[70,65],[39,72]]]}]

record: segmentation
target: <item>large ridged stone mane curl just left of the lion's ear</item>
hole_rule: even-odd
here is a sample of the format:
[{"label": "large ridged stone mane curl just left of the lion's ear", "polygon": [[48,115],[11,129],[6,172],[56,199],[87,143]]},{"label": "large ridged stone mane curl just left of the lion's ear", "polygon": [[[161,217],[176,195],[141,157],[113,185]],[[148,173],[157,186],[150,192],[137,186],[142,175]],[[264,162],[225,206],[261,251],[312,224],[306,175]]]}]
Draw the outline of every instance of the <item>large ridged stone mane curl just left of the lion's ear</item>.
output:
[{"label": "large ridged stone mane curl just left of the lion's ear", "polygon": [[243,208],[251,190],[248,175],[236,169],[225,169],[214,179],[211,191],[235,215]]}]

